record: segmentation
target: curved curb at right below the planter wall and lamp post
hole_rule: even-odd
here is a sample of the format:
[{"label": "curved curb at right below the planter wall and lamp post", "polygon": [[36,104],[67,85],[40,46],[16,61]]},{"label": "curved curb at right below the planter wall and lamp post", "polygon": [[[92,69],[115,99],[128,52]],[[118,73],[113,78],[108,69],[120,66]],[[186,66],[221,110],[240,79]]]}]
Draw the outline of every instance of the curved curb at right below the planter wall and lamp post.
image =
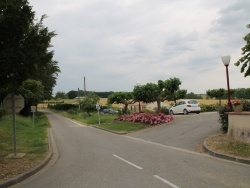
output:
[{"label": "curved curb at right below the planter wall and lamp post", "polygon": [[[210,137],[209,137],[210,138]],[[223,154],[223,153],[219,153],[216,151],[213,151],[210,147],[208,147],[207,145],[207,140],[209,139],[205,139],[204,143],[203,143],[203,147],[206,153],[208,153],[209,155],[213,156],[213,157],[218,157],[221,159],[226,159],[229,161],[234,161],[234,162],[238,162],[238,163],[244,163],[244,164],[248,164],[250,165],[250,159],[246,159],[246,158],[241,158],[241,157],[235,157],[233,155],[228,155],[228,154]]]}]

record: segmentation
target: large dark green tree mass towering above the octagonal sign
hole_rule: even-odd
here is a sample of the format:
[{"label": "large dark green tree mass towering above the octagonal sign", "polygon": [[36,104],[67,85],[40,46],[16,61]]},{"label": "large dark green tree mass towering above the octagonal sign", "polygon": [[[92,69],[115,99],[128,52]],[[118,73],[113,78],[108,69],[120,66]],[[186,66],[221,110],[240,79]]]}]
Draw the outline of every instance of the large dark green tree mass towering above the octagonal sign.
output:
[{"label": "large dark green tree mass towering above the octagonal sign", "polygon": [[56,34],[43,26],[45,15],[38,23],[34,15],[27,0],[0,2],[0,87],[17,92],[23,81],[39,80],[49,99],[60,72],[54,52],[48,51]]}]

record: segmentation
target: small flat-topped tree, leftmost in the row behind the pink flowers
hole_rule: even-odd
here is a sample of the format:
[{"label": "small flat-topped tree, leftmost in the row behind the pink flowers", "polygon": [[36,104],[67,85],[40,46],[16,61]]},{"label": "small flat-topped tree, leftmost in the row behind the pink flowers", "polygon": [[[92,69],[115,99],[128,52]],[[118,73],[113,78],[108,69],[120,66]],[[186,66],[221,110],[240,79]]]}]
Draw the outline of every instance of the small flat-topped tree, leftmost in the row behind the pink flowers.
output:
[{"label": "small flat-topped tree, leftmost in the row behind the pink flowers", "polygon": [[124,104],[124,113],[127,113],[128,105],[135,103],[132,92],[114,92],[108,96],[108,104]]}]

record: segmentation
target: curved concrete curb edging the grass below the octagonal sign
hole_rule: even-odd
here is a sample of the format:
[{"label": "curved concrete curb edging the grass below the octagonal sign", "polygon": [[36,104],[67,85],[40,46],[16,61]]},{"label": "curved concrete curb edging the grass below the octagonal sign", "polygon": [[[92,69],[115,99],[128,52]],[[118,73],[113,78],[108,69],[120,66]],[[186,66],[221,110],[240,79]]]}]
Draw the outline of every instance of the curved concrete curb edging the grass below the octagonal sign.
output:
[{"label": "curved concrete curb edging the grass below the octagonal sign", "polygon": [[29,178],[30,176],[32,176],[35,173],[37,173],[38,171],[40,171],[42,168],[44,168],[49,163],[49,161],[51,160],[51,158],[53,156],[51,136],[52,136],[52,129],[49,128],[48,129],[49,153],[46,156],[46,158],[40,164],[31,168],[27,172],[24,172],[24,173],[14,177],[14,178],[11,178],[9,180],[4,181],[3,183],[0,183],[0,188],[6,188],[6,187],[12,186],[14,184],[20,183],[21,181]]}]

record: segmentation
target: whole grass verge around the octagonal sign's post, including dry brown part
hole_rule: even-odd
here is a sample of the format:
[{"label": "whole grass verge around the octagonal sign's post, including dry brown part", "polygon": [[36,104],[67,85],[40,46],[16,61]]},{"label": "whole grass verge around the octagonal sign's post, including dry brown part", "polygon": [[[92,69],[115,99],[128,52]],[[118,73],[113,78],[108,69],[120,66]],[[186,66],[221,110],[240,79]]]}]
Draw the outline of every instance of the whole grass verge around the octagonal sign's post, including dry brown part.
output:
[{"label": "whole grass verge around the octagonal sign's post, including dry brown part", "polygon": [[29,170],[47,156],[48,127],[48,119],[42,113],[36,113],[34,126],[32,118],[16,116],[16,151],[26,155],[21,159],[6,159],[14,153],[12,116],[0,119],[0,182]]}]

